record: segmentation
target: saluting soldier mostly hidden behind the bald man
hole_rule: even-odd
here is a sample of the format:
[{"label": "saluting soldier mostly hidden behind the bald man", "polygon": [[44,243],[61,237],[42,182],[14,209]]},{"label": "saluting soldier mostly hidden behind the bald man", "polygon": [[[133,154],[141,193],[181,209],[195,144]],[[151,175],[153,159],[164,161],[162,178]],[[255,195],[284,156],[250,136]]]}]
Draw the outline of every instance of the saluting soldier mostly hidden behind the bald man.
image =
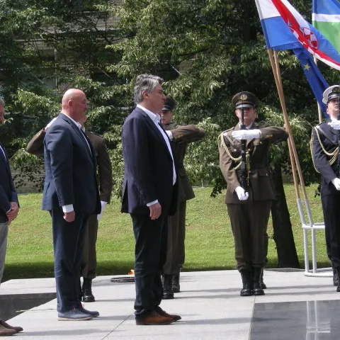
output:
[{"label": "saluting soldier mostly hidden behind the bald man", "polygon": [[[84,278],[83,287],[81,288],[81,296],[84,302],[94,302],[95,298],[92,293],[92,280],[96,277],[96,242],[98,233],[98,222],[107,203],[110,203],[112,191],[112,166],[110,157],[108,156],[108,148],[105,140],[94,132],[85,130],[85,120],[80,120],[81,129],[89,138],[94,152],[96,153],[96,161],[98,165],[99,193],[101,196],[101,213],[98,215],[90,215],[89,227],[86,228],[86,237],[84,243],[84,251],[81,259],[81,276]],[[45,128],[40,130],[30,140],[26,147],[26,151],[35,156],[43,156],[44,154],[44,138],[47,129],[54,123],[55,118],[47,124]]]}]

